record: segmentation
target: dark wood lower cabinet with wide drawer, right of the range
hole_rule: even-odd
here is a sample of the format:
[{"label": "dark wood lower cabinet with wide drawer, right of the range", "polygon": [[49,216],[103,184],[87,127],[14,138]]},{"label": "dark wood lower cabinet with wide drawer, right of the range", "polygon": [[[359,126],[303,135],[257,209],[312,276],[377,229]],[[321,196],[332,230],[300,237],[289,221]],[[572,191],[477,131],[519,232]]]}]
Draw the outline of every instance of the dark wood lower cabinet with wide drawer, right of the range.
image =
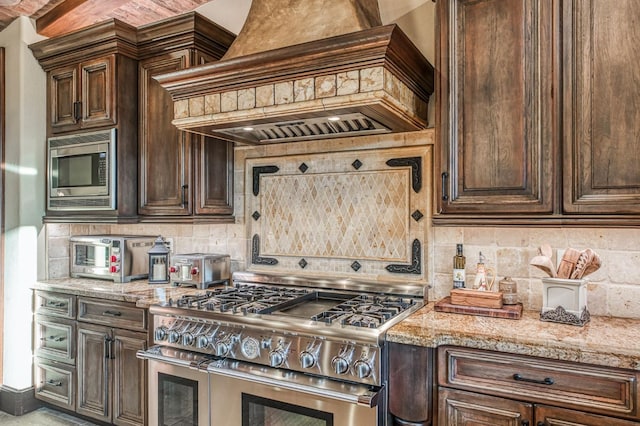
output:
[{"label": "dark wood lower cabinet with wide drawer, right of the range", "polygon": [[438,348],[442,426],[619,425],[640,420],[638,373],[610,367],[499,353]]}]

